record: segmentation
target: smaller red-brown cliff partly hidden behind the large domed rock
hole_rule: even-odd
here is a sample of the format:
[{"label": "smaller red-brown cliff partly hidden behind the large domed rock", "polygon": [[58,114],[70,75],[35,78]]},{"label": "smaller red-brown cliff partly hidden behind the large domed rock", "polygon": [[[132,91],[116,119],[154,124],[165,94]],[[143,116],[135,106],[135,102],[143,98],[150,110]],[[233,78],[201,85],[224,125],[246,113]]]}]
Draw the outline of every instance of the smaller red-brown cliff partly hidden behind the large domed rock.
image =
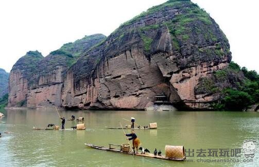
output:
[{"label": "smaller red-brown cliff partly hidden behind the large domed rock", "polygon": [[[45,58],[41,55],[41,59],[33,62],[29,57],[21,58],[11,71],[9,107],[20,106],[21,101],[27,107],[60,106],[67,69],[77,61],[80,54],[105,38],[102,34],[85,36],[74,43],[64,44]],[[32,65],[32,68],[28,68]]]}]

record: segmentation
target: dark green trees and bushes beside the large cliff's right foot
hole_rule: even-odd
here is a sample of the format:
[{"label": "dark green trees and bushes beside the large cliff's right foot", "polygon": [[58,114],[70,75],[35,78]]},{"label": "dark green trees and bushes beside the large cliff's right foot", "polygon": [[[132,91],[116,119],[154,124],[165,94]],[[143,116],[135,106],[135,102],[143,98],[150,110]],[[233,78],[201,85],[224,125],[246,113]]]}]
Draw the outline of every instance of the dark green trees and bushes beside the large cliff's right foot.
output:
[{"label": "dark green trees and bushes beside the large cliff's right foot", "polygon": [[[219,80],[225,80],[229,72],[241,72],[246,79],[236,83],[239,86],[235,88],[218,89],[222,98],[212,106],[217,110],[243,110],[250,105],[259,103],[259,75],[257,72],[255,70],[248,71],[246,67],[240,68],[238,64],[231,62],[227,69],[216,71],[214,75]],[[210,86],[209,89],[215,88],[213,83]]]}]

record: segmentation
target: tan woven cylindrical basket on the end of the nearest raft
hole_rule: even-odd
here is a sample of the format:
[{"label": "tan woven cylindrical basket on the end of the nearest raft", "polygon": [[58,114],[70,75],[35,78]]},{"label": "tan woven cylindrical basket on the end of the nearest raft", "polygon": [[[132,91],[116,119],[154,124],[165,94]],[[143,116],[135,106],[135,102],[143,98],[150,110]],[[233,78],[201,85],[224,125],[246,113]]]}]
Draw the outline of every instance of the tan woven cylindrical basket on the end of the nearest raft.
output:
[{"label": "tan woven cylindrical basket on the end of the nearest raft", "polygon": [[165,156],[168,158],[184,158],[184,147],[182,145],[166,145]]}]

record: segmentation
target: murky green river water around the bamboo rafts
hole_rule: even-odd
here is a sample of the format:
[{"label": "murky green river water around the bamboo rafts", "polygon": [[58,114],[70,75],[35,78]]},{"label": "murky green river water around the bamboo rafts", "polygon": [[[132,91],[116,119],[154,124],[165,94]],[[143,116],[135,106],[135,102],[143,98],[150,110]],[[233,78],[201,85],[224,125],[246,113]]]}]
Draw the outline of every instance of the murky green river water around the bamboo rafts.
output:
[{"label": "murky green river water around the bamboo rafts", "polygon": [[[4,114],[0,119],[0,132],[11,133],[0,138],[0,166],[259,166],[259,113],[256,112],[60,112],[65,118],[71,118],[71,115],[84,117],[85,131],[32,129],[48,123],[60,125],[55,109],[9,109]],[[158,129],[135,130],[142,146],[150,152],[156,148],[164,154],[165,145],[183,145],[187,151],[194,151],[194,155],[189,152],[191,157],[179,162],[133,157],[84,146],[87,142],[103,146],[127,143],[121,129],[105,127],[117,127],[119,121],[123,125],[129,124],[123,118],[130,117],[135,117],[136,123],[143,126],[158,123]],[[65,128],[70,127],[71,121],[66,121]],[[126,131],[130,133],[130,130]],[[244,156],[242,144],[246,139],[256,140],[253,158]],[[205,150],[206,157],[198,156],[200,149]],[[217,157],[208,156],[208,149],[216,149]],[[228,150],[230,157],[219,156],[220,149]],[[238,153],[238,150],[240,154],[230,155],[231,151]]]}]

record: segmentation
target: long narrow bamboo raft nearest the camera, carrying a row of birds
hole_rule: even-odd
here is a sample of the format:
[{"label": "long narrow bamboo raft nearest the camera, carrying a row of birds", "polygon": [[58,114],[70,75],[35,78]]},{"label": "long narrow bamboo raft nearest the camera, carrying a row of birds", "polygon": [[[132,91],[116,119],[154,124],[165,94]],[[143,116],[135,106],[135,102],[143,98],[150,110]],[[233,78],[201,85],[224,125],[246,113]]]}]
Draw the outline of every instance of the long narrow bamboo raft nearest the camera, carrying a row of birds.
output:
[{"label": "long narrow bamboo raft nearest the camera, carrying a row of birds", "polygon": [[[86,145],[88,147],[91,147],[93,149],[102,150],[102,151],[109,151],[109,152],[128,154],[128,155],[133,154],[132,151],[123,152],[121,145],[116,145],[116,144],[109,144],[109,147],[98,146],[98,145],[93,145],[93,144],[89,144],[89,143],[85,143],[84,145]],[[112,145],[120,146],[120,149],[114,149],[114,148],[111,147]],[[164,155],[158,156],[158,155],[153,155],[153,154],[150,154],[150,153],[145,153],[145,154],[139,153],[139,154],[135,154],[135,156],[149,157],[149,158],[156,158],[156,159],[164,159],[164,160],[175,160],[175,161],[183,161],[185,159],[185,157],[183,157],[183,158],[169,158],[169,157],[166,157]]]}]

